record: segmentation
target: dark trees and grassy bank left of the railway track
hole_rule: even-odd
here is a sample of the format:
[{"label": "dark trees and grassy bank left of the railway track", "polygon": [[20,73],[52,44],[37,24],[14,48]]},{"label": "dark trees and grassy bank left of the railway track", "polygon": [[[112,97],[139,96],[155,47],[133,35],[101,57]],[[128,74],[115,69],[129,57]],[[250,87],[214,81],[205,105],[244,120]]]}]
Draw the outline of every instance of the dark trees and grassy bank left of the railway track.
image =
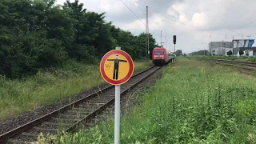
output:
[{"label": "dark trees and grassy bank left of the railway track", "polygon": [[[83,6],[0,1],[0,120],[102,83],[98,63],[115,46],[133,59],[145,56],[145,34],[121,30]],[[155,46],[150,34],[150,51]],[[139,60],[135,70],[150,64]]]}]

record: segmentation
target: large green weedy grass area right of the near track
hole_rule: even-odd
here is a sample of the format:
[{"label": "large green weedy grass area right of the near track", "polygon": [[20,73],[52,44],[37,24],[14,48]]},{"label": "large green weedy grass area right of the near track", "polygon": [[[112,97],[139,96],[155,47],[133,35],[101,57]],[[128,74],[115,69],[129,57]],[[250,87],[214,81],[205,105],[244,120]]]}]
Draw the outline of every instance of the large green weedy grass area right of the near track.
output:
[{"label": "large green weedy grass area right of the near track", "polygon": [[[178,58],[121,119],[121,143],[255,143],[256,78]],[[55,143],[113,143],[114,119]]]}]

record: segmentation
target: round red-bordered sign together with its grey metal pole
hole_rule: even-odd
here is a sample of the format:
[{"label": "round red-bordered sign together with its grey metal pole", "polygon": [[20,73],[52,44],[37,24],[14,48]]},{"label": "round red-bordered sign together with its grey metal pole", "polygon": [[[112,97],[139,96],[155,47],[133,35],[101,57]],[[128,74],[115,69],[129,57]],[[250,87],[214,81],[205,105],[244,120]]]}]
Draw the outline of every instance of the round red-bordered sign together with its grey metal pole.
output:
[{"label": "round red-bordered sign together with its grey metal pole", "polygon": [[114,144],[120,142],[120,89],[134,74],[134,62],[130,55],[116,47],[107,52],[100,63],[102,78],[115,85],[114,96]]}]

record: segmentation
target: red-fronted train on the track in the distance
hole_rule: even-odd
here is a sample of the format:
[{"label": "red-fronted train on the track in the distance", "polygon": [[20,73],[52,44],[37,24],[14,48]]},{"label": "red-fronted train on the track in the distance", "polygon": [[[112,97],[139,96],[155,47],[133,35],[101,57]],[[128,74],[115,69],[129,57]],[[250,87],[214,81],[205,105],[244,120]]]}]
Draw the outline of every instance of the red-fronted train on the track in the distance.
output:
[{"label": "red-fronted train on the track in the distance", "polygon": [[155,47],[152,51],[154,66],[163,66],[175,58],[175,54],[168,52],[164,47]]}]

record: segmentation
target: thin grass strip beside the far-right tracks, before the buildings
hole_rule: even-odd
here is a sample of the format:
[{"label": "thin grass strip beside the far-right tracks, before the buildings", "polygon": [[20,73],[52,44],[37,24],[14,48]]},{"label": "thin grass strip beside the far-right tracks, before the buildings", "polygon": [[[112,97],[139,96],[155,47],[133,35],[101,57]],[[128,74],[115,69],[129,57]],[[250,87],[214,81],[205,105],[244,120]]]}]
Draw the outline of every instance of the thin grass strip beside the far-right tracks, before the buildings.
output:
[{"label": "thin grass strip beside the far-right tracks, before the buildings", "polygon": [[256,62],[255,57],[246,57],[246,56],[194,56],[194,58],[212,58],[212,59],[226,59],[226,60],[234,60],[239,62]]}]

